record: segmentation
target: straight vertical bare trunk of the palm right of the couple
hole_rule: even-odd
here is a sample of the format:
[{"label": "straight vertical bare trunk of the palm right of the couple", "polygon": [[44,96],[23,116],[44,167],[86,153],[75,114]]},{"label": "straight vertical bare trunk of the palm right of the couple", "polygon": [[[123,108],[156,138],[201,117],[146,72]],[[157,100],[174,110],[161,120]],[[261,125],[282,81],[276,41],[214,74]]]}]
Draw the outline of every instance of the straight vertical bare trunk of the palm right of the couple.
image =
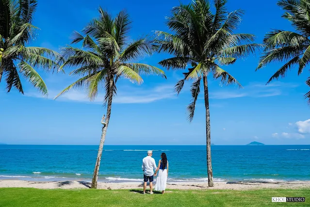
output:
[{"label": "straight vertical bare trunk of the palm right of the couple", "polygon": [[206,107],[208,186],[213,187],[214,184],[213,184],[213,172],[211,162],[211,127],[210,127],[209,91],[208,91],[207,75],[203,76],[203,86],[205,92],[205,107]]}]

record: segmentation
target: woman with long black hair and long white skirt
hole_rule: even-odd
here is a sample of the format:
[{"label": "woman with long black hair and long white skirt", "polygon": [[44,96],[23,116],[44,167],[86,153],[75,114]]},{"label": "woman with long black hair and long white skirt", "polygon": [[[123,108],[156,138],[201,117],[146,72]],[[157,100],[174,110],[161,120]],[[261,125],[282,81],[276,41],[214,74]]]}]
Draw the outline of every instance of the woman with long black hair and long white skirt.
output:
[{"label": "woman with long black hair and long white skirt", "polygon": [[155,176],[158,172],[158,177],[156,179],[156,185],[155,190],[162,191],[162,194],[164,193],[164,190],[166,189],[167,185],[167,177],[168,177],[168,160],[165,153],[162,153],[161,158],[158,162],[158,167],[155,171]]}]

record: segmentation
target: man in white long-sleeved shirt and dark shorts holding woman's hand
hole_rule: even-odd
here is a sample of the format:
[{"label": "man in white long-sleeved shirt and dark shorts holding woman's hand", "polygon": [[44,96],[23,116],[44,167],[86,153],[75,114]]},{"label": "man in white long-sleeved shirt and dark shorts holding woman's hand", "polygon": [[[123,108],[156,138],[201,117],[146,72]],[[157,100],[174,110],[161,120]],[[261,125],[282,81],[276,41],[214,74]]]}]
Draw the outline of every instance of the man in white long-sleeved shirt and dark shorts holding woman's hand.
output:
[{"label": "man in white long-sleeved shirt and dark shorts holding woman's hand", "polygon": [[149,181],[149,189],[150,193],[153,194],[153,179],[154,179],[154,170],[156,170],[155,159],[152,158],[153,151],[147,151],[147,156],[142,160],[142,170],[144,173],[144,186],[143,186],[143,194],[146,194],[147,181]]}]

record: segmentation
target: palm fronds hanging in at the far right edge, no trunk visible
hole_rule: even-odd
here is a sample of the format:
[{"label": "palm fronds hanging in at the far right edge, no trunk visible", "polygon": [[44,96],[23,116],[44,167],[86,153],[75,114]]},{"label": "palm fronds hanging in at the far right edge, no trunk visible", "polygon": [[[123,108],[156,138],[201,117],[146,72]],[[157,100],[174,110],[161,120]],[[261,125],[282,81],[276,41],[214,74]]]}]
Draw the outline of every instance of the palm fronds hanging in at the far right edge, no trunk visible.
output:
[{"label": "palm fronds hanging in at the far right edge, no trunk visible", "polygon": [[[280,0],[277,2],[286,12],[282,17],[289,20],[296,32],[273,30],[263,39],[264,52],[256,70],[271,62],[286,63],[271,76],[273,79],[285,77],[286,72],[298,65],[300,75],[307,64],[310,63],[310,0]],[[310,86],[310,77],[306,81]],[[305,95],[310,104],[310,91]]]}]

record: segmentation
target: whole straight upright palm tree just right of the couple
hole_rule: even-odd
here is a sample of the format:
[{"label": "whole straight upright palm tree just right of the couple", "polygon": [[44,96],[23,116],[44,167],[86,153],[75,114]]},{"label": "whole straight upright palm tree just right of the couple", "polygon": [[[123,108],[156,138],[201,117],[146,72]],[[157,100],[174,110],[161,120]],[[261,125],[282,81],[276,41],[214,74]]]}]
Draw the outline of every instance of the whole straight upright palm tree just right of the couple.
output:
[{"label": "whole straight upright palm tree just right of the couple", "polygon": [[207,0],[194,0],[188,5],[181,4],[172,9],[172,16],[167,17],[166,25],[172,34],[156,32],[159,52],[168,52],[173,57],[162,60],[159,64],[166,69],[185,69],[188,64],[193,68],[184,72],[184,78],[175,86],[179,94],[186,80],[194,80],[191,85],[192,102],[187,106],[188,119],[193,120],[200,83],[203,82],[206,108],[207,168],[208,184],[213,186],[211,163],[210,111],[209,111],[209,74],[220,79],[222,84],[239,82],[222,65],[231,65],[237,58],[244,57],[258,47],[253,44],[254,35],[233,34],[237,29],[242,10],[228,13],[226,0],[214,0],[216,12],[212,14]]}]

